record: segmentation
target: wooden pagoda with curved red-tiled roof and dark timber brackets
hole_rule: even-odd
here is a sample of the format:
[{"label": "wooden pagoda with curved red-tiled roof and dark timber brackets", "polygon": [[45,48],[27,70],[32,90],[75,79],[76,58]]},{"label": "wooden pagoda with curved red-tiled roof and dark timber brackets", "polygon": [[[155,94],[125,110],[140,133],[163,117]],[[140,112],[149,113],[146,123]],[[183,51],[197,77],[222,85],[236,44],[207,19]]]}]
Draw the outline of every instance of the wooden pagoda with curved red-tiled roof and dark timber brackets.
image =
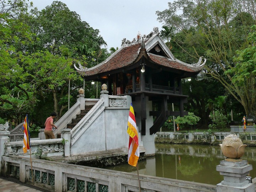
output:
[{"label": "wooden pagoda with curved red-tiled roof and dark timber brackets", "polygon": [[[201,57],[195,64],[176,59],[158,30],[148,36],[138,36],[132,42],[125,40],[122,47],[102,63],[92,68],[75,68],[86,81],[106,84],[109,95],[130,95],[142,140],[147,134],[152,137],[149,140],[154,140],[154,133],[169,116],[187,114],[183,103],[188,96],[182,94],[181,80],[197,75],[206,59],[202,61]],[[168,110],[167,103],[175,103],[179,111]],[[157,106],[154,110],[153,104]]]}]

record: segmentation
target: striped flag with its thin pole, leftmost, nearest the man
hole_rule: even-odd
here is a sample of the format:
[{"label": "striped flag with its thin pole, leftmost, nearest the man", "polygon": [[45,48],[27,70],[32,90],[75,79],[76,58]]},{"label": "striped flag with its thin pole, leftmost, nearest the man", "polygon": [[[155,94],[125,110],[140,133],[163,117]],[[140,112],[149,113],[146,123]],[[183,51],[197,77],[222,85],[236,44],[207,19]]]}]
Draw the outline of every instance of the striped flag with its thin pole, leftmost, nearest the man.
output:
[{"label": "striped flag with its thin pole, leftmost, nearest the man", "polygon": [[23,139],[23,152],[27,153],[27,150],[30,150],[30,164],[31,164],[31,176],[32,182],[34,183],[33,178],[33,169],[32,169],[32,159],[31,159],[31,148],[30,148],[30,131],[29,131],[29,123],[28,123],[28,115],[26,115],[22,130],[24,132],[24,139]]}]

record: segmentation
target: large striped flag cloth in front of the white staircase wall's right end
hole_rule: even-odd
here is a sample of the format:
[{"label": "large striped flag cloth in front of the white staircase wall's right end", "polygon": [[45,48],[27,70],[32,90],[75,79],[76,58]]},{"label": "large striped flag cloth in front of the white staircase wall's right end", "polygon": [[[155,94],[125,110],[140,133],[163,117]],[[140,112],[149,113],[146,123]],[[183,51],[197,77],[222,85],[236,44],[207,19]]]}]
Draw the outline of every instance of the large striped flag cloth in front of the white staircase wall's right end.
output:
[{"label": "large striped flag cloth in front of the white staircase wall's right end", "polygon": [[139,159],[139,137],[137,132],[137,126],[134,116],[134,110],[131,103],[127,133],[129,134],[129,150],[128,150],[128,164],[136,167]]}]

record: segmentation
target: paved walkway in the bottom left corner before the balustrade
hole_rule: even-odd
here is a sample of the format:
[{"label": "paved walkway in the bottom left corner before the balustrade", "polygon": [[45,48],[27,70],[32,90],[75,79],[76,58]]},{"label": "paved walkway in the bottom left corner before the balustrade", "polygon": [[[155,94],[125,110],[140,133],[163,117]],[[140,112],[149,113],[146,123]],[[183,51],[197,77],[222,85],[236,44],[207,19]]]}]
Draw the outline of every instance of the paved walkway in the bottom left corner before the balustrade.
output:
[{"label": "paved walkway in the bottom left corner before the balustrade", "polygon": [[[0,191],[1,192],[40,192],[44,191],[38,187],[27,185],[13,178],[0,177]],[[46,192],[46,191],[44,191]]]}]

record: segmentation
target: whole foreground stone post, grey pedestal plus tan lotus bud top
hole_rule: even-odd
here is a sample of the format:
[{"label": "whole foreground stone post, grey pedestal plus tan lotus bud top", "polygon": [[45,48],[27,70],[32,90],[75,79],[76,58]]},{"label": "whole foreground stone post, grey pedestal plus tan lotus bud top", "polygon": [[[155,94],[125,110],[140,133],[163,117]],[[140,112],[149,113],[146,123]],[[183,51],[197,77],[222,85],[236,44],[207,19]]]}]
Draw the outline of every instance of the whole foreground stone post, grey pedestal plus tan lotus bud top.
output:
[{"label": "whole foreground stone post, grey pedestal plus tan lotus bud top", "polygon": [[226,158],[217,165],[217,171],[224,176],[224,180],[217,184],[217,192],[254,192],[254,184],[246,180],[252,165],[241,159],[247,145],[243,145],[236,135],[226,136],[219,145]]}]

